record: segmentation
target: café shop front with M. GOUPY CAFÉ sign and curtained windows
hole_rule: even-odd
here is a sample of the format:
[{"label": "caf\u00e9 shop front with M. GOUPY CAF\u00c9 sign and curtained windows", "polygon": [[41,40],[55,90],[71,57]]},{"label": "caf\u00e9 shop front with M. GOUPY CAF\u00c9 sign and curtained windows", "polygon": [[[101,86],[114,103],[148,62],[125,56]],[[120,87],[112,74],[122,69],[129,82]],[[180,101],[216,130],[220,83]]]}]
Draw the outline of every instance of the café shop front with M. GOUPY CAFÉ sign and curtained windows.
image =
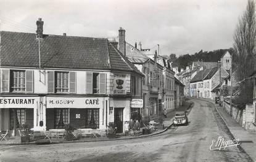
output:
[{"label": "caf\u00e9 shop front with M. GOUPY CAF\u00c9 sign and curtained windows", "polygon": [[75,128],[105,128],[106,98],[47,97],[46,129],[64,128],[72,123]]}]

